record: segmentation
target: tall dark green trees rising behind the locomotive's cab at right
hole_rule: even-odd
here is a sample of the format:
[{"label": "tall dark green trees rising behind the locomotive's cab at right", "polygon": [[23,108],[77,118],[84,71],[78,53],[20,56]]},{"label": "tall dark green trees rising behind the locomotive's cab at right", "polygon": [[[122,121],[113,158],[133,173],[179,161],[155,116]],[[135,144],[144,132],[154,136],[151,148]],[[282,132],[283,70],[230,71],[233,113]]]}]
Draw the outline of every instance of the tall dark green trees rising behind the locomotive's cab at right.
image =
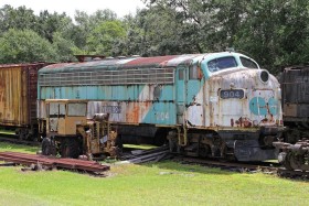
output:
[{"label": "tall dark green trees rising behind the locomotive's cab at right", "polygon": [[[174,21],[194,25],[200,52],[235,47],[277,73],[308,64],[309,2],[306,0],[146,0],[175,11]],[[190,31],[182,28],[182,31]],[[193,36],[189,32],[189,35]]]}]

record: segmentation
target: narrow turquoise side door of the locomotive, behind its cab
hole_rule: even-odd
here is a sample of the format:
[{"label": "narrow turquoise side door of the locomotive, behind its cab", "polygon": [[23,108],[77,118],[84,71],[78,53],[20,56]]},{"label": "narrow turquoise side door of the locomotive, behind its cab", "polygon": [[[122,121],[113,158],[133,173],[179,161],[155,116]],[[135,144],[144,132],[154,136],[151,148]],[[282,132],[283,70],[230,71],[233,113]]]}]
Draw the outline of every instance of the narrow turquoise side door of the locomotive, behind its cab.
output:
[{"label": "narrow turquoise side door of the locomotive, behind its cab", "polygon": [[175,73],[175,108],[177,108],[177,123],[183,124],[183,113],[185,108],[187,97],[187,69],[184,66],[177,68]]}]

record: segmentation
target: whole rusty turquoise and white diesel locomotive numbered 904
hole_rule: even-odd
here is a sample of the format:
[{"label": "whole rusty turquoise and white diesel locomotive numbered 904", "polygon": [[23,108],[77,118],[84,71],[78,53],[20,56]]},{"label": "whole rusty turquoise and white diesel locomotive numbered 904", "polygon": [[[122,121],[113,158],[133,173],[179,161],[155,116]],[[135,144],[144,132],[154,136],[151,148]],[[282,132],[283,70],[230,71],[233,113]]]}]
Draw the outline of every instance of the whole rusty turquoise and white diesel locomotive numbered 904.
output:
[{"label": "whole rusty turquoise and white diesel locomotive numbered 904", "polygon": [[[78,142],[83,138],[58,134],[65,131],[60,126],[62,118],[70,117],[70,106],[61,105],[62,99],[86,101],[86,110],[77,107],[71,112],[86,111],[88,119],[105,113],[105,122],[118,133],[117,141],[167,142],[171,152],[193,156],[238,161],[277,158],[273,142],[284,129],[280,86],[271,74],[243,54],[53,64],[40,69],[38,77],[40,128],[47,130],[47,145],[57,141],[65,144],[60,147],[64,152],[81,151]],[[53,100],[57,104],[51,104]],[[71,119],[70,127],[75,132],[83,122]],[[94,131],[100,130],[93,128]],[[103,135],[97,134],[97,145],[106,142]],[[82,137],[90,140],[92,135]],[[92,151],[92,141],[86,142]]]}]

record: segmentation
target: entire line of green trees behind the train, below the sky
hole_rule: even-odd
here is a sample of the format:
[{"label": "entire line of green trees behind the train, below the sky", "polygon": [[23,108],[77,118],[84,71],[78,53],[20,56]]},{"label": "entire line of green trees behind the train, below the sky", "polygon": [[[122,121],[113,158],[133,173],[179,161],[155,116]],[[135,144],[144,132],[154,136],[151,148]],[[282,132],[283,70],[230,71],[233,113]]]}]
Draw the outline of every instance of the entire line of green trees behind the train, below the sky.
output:
[{"label": "entire line of green trees behind the train, below the sky", "polygon": [[75,61],[74,54],[154,56],[226,48],[277,73],[309,63],[308,0],[143,0],[146,9],[118,18],[0,9],[0,64]]}]

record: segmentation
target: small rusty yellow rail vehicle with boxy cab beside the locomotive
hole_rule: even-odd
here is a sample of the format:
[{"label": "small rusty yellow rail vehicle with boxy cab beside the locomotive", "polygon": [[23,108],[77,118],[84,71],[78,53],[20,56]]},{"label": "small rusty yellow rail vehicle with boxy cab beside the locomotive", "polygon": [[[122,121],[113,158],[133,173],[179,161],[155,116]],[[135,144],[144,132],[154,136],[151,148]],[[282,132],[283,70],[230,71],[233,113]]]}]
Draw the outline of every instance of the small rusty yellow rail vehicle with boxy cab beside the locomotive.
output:
[{"label": "small rusty yellow rail vehicle with boxy cab beside the locomotive", "polygon": [[118,155],[117,132],[111,129],[108,113],[95,113],[87,120],[86,100],[47,99],[45,102],[46,137],[42,141],[42,154],[60,153],[63,158],[84,154],[89,160],[97,154]]}]

